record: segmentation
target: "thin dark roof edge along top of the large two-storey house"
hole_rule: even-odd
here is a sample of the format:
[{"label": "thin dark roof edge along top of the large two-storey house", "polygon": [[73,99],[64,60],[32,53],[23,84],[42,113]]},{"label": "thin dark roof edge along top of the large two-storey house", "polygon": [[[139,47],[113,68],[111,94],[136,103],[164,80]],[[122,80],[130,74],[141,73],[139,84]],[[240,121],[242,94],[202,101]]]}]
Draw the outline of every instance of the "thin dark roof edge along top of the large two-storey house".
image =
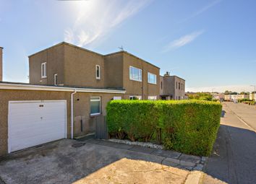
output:
[{"label": "thin dark roof edge along top of the large two-storey house", "polygon": [[[38,54],[38,53],[43,52],[43,51],[46,51],[46,50],[48,50],[48,49],[50,49],[50,48],[57,47],[57,46],[59,46],[59,45],[69,45],[69,46],[72,46],[72,47],[74,47],[74,48],[79,48],[79,49],[81,49],[81,50],[83,50],[83,51],[88,51],[88,52],[90,52],[90,53],[95,53],[95,54],[97,54],[97,55],[99,55],[99,56],[111,56],[111,55],[118,54],[118,53],[127,53],[127,54],[129,54],[130,56],[133,56],[133,57],[135,57],[135,58],[139,58],[139,57],[133,55],[132,53],[128,53],[127,51],[118,51],[118,52],[115,52],[115,53],[108,53],[108,54],[106,54],[106,55],[103,55],[103,54],[101,54],[101,53],[96,53],[96,52],[94,52],[94,51],[90,51],[90,50],[88,50],[88,49],[86,49],[86,48],[82,48],[82,47],[79,47],[79,46],[77,46],[77,45],[73,45],[73,44],[67,43],[67,42],[58,43],[58,44],[53,45],[53,46],[51,46],[51,47],[49,47],[49,48],[45,48],[45,49],[43,49],[42,51],[38,51],[37,53],[33,53],[33,54],[31,54],[30,56],[28,56],[28,57],[34,56],[35,54]],[[143,60],[142,58],[139,58],[139,59],[142,60],[142,61],[144,61],[145,63],[149,63],[148,61],[145,61],[145,60]],[[152,63],[149,63],[149,64],[152,65],[152,66],[155,66],[155,65],[153,65]],[[158,68],[158,69],[160,69],[158,66],[155,66],[155,67]]]}]

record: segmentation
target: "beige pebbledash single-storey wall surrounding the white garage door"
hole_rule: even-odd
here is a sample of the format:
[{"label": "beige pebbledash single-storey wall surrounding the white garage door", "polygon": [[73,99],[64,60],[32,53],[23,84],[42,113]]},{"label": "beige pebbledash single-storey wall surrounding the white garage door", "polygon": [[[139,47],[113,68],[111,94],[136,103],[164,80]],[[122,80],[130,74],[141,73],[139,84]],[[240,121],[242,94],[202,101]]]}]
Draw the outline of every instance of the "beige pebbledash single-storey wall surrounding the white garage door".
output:
[{"label": "beige pebbledash single-storey wall surrounding the white garage door", "polygon": [[[71,92],[49,92],[31,90],[0,89],[0,156],[7,154],[8,139],[8,106],[9,101],[17,100],[67,100],[67,137],[71,137]],[[74,137],[95,131],[93,118],[90,116],[90,97],[101,97],[101,114],[106,115],[106,104],[113,97],[123,97],[122,94],[85,93],[74,95]],[[81,131],[81,120],[83,131]]]}]

